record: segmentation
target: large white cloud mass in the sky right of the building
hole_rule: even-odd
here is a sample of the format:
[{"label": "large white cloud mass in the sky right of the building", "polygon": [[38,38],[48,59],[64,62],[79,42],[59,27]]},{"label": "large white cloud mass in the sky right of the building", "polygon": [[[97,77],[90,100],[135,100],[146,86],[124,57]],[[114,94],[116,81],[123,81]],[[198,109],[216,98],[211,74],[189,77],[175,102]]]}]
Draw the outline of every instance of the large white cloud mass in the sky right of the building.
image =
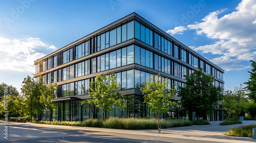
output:
[{"label": "large white cloud mass in the sky right of the building", "polygon": [[[180,32],[196,30],[198,35],[204,34],[214,39],[214,43],[193,47],[193,49],[202,53],[220,55],[212,59],[212,62],[223,65],[221,67],[226,70],[244,69],[247,66],[239,63],[243,60],[254,60],[256,57],[256,1],[243,0],[236,11],[218,17],[226,10],[211,12],[202,19],[202,22],[182,27],[183,31]],[[168,31],[175,31],[175,29]]]}]

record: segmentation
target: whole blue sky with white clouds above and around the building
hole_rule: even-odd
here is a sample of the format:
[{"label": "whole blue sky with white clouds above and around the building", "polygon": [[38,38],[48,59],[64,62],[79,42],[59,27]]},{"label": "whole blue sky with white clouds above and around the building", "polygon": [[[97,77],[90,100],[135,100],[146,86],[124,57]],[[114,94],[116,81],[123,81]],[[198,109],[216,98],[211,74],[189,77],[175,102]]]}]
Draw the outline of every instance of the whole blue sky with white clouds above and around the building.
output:
[{"label": "whole blue sky with white clouds above and around the building", "polygon": [[225,69],[225,89],[248,80],[256,56],[253,0],[0,2],[0,82],[18,89],[36,59],[132,12]]}]

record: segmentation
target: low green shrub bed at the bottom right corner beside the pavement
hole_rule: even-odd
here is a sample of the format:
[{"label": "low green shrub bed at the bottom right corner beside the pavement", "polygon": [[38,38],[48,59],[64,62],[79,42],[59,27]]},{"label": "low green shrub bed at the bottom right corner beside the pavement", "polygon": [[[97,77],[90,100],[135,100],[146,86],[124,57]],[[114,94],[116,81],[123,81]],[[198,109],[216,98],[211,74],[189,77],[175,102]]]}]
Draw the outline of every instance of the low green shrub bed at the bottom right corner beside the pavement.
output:
[{"label": "low green shrub bed at the bottom right corner beside the pavement", "polygon": [[250,124],[247,126],[238,125],[230,129],[224,135],[231,135],[231,136],[241,136],[241,137],[251,137],[252,138],[252,128],[256,128],[255,124]]}]

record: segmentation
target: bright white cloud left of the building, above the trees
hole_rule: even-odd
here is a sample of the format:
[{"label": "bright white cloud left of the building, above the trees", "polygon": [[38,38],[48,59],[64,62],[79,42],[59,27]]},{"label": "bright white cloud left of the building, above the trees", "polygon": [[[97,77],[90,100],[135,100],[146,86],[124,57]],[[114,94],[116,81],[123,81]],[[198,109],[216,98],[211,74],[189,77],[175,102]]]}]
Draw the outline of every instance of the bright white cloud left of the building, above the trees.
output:
[{"label": "bright white cloud left of the building, above the trees", "polygon": [[35,73],[34,61],[46,54],[38,50],[56,49],[39,38],[7,39],[0,37],[0,69]]}]

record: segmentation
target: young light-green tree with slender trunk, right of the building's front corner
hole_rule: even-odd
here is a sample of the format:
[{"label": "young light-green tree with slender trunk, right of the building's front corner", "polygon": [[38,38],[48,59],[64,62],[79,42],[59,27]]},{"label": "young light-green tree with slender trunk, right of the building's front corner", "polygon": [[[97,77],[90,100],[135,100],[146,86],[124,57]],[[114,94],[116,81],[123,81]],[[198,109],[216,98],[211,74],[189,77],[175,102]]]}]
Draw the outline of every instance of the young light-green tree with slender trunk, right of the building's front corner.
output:
[{"label": "young light-green tree with slender trunk, right of the building's front corner", "polygon": [[177,106],[177,103],[173,99],[175,94],[175,88],[168,89],[168,80],[164,79],[161,82],[161,76],[153,75],[152,78],[145,80],[145,86],[140,90],[144,94],[144,103],[148,104],[151,112],[158,114],[158,132],[161,132],[161,120],[159,115],[169,111],[173,106]]}]

